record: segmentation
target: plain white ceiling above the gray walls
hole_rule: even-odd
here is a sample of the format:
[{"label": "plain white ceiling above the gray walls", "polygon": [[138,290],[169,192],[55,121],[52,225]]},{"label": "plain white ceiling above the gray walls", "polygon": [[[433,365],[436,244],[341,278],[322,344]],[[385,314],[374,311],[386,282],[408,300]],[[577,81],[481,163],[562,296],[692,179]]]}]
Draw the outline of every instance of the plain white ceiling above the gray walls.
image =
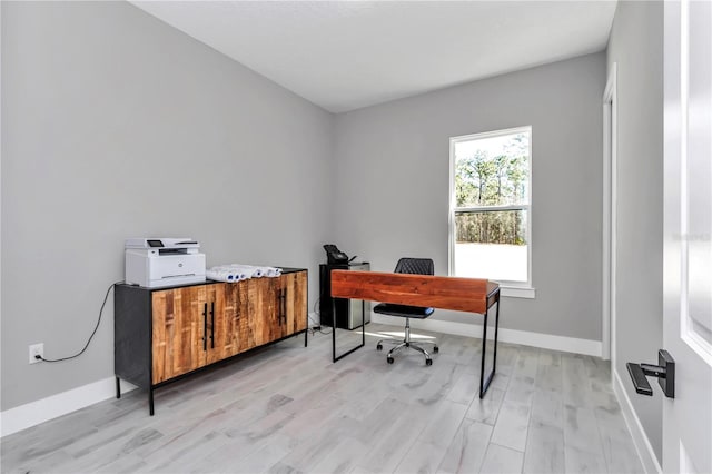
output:
[{"label": "plain white ceiling above the gray walls", "polygon": [[605,48],[597,1],[132,1],[343,112]]}]

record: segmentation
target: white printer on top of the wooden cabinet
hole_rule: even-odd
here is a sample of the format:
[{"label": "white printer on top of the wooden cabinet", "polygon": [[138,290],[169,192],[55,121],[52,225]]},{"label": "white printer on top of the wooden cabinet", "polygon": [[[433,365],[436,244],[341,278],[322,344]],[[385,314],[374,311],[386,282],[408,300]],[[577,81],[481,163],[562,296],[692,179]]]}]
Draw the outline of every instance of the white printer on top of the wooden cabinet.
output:
[{"label": "white printer on top of the wooden cabinet", "polygon": [[205,282],[205,254],[190,238],[126,240],[126,283],[147,288]]}]

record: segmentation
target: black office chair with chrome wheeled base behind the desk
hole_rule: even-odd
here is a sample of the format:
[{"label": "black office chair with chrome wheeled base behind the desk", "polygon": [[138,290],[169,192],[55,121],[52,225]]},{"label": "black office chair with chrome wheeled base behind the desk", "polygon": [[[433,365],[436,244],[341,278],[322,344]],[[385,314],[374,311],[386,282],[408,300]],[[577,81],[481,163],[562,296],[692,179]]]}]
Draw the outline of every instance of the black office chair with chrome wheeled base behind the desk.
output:
[{"label": "black office chair with chrome wheeled base behind the desk", "polygon": [[[395,273],[397,274],[415,274],[415,275],[435,275],[435,266],[433,265],[433,260],[429,258],[402,258],[398,260],[396,265]],[[406,306],[406,305],[394,305],[390,303],[382,303],[374,307],[375,313],[379,313],[382,315],[388,316],[399,316],[405,318],[405,337],[402,343],[398,343],[396,339],[382,339],[378,340],[376,345],[376,350],[383,349],[383,343],[395,343],[397,344],[394,348],[388,352],[387,361],[388,364],[393,364],[393,354],[397,350],[400,350],[404,347],[412,347],[415,350],[422,353],[425,356],[425,365],[433,365],[433,361],[431,359],[431,355],[421,347],[421,344],[433,344],[433,352],[437,353],[438,347],[436,342],[418,342],[413,343],[411,340],[411,318],[425,319],[429,317],[434,309],[433,308],[423,308],[419,306]]]}]

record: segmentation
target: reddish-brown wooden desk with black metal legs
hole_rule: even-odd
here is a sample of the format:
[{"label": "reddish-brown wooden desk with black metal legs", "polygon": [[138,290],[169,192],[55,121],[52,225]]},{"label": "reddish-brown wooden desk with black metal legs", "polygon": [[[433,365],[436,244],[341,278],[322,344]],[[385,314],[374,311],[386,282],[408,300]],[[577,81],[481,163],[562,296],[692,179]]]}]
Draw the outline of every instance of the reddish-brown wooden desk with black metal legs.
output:
[{"label": "reddish-brown wooden desk with black metal legs", "polygon": [[[332,297],[424,306],[482,314],[482,364],[479,398],[495,374],[497,362],[497,332],[500,328],[500,285],[477,278],[443,277],[433,275],[389,274],[377,271],[332,270]],[[494,354],[492,372],[485,377],[487,315],[497,305],[494,325]],[[365,324],[362,324],[360,345],[336,356],[336,328],[332,330],[333,362],[346,357],[366,345]]]}]

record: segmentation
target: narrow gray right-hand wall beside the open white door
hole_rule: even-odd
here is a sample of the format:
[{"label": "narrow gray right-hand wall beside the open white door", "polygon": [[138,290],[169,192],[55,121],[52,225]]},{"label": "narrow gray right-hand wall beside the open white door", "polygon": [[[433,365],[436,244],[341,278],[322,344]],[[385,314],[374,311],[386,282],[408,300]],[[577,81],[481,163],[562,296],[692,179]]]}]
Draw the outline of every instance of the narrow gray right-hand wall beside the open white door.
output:
[{"label": "narrow gray right-hand wall beside the open white door", "polygon": [[619,2],[607,50],[617,63],[616,366],[662,463],[662,397],[635,394],[626,362],[662,347],[663,3]]}]

